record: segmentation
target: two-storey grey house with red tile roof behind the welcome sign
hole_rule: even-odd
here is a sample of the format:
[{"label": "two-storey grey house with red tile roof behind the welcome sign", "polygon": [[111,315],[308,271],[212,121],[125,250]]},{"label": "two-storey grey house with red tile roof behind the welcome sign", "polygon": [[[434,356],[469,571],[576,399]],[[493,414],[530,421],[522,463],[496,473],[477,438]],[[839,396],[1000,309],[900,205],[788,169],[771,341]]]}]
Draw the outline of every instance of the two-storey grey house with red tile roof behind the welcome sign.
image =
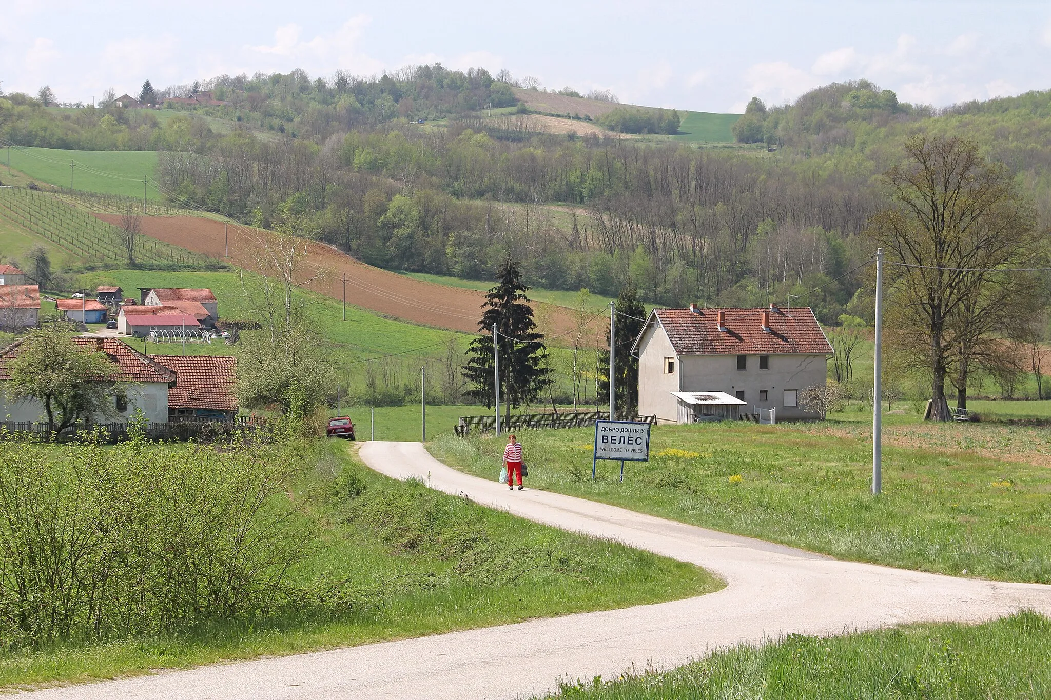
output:
[{"label": "two-storey grey house with red tile roof behind the welcome sign", "polygon": [[639,358],[639,413],[694,423],[734,418],[716,408],[729,405],[739,415],[774,408],[779,419],[818,418],[799,406],[799,395],[825,383],[832,347],[806,307],[691,304],[655,309],[632,353]]}]

